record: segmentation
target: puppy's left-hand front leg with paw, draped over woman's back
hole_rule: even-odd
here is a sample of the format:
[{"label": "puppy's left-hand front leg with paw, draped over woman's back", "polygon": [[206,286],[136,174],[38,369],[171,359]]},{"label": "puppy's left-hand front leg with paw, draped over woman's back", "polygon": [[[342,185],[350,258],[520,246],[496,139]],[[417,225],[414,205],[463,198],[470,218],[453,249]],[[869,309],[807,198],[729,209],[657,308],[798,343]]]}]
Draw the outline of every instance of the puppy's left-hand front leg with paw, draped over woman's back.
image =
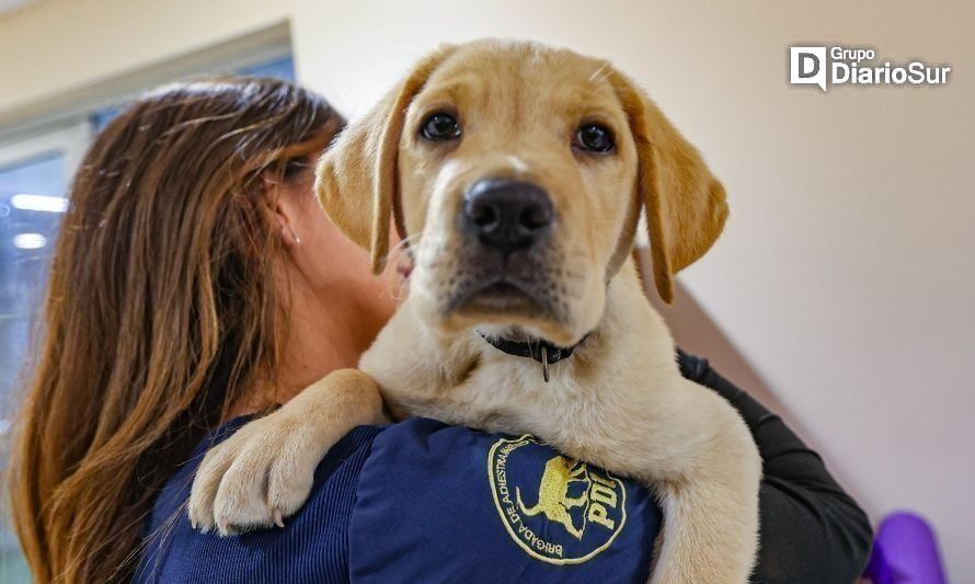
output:
[{"label": "puppy's left-hand front leg with paw, draped over woman's back", "polygon": [[223,536],[283,525],[308,499],[329,449],[355,426],[383,421],[371,377],[329,374],[207,453],[190,494],[191,523]]}]

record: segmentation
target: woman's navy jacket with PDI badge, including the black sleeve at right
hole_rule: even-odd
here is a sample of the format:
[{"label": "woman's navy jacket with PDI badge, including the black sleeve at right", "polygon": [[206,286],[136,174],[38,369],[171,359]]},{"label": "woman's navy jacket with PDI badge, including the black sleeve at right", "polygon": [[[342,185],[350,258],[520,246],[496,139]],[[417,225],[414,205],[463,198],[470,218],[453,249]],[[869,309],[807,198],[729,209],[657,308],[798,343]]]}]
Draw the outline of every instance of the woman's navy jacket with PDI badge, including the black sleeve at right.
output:
[{"label": "woman's navy jacket with PDI badge, including the black sleeve at right", "polygon": [[[685,377],[742,413],[765,461],[757,582],[850,582],[870,525],[782,421],[680,354]],[[220,538],[185,511],[204,440],[160,493],[137,582],[645,582],[661,513],[651,495],[530,437],[413,419],[363,426],[329,451],[284,529]]]}]

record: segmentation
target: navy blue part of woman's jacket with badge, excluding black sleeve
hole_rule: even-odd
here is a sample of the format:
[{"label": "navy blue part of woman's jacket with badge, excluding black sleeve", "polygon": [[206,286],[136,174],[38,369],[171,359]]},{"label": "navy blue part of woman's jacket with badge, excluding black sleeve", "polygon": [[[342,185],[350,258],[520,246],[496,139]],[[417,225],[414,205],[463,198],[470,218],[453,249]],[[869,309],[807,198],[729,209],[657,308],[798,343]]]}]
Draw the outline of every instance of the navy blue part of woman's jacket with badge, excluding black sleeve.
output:
[{"label": "navy blue part of woman's jacket with badge, excluding black sleeve", "polygon": [[645,491],[529,436],[412,419],[336,444],[284,529],[220,538],[183,507],[200,456],[157,503],[140,581],[643,581],[659,526]]}]

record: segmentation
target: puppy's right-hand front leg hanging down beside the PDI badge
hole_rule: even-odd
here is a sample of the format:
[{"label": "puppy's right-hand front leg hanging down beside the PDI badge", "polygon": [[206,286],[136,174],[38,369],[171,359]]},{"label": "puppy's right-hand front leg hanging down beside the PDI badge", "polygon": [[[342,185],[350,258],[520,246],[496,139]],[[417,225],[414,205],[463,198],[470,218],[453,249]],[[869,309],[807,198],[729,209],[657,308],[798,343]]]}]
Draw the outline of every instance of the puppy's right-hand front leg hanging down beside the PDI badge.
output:
[{"label": "puppy's right-hand front leg hanging down beside the PDI badge", "polygon": [[[761,458],[736,411],[716,394],[681,380],[681,391],[699,392],[698,409],[686,412],[702,431],[713,430],[696,456],[673,479],[656,481],[664,512],[663,547],[653,584],[742,584],[758,549],[758,488]],[[707,421],[711,428],[701,427]]]}]

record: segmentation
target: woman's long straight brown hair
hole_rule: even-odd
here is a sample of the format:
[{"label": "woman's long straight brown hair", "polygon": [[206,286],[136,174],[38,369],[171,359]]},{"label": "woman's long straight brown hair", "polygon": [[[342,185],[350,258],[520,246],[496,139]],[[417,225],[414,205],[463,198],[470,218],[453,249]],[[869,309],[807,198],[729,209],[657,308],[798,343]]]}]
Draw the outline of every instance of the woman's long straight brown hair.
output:
[{"label": "woman's long straight brown hair", "polygon": [[126,581],[176,466],[286,334],[263,190],[343,125],[290,83],[162,88],[95,139],[69,195],[11,460],[37,582]]}]

